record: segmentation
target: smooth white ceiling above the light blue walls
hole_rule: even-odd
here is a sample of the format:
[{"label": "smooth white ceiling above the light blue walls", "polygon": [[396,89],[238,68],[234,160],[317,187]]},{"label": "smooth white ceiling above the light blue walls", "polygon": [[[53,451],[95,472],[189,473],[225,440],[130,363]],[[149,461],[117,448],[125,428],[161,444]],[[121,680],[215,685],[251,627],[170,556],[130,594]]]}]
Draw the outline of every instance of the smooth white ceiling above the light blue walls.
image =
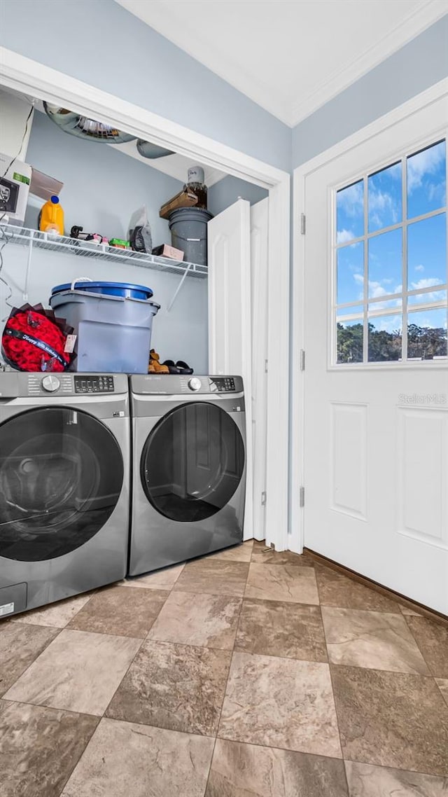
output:
[{"label": "smooth white ceiling above the light blue walls", "polygon": [[448,0],[116,0],[291,127],[448,12]]}]

